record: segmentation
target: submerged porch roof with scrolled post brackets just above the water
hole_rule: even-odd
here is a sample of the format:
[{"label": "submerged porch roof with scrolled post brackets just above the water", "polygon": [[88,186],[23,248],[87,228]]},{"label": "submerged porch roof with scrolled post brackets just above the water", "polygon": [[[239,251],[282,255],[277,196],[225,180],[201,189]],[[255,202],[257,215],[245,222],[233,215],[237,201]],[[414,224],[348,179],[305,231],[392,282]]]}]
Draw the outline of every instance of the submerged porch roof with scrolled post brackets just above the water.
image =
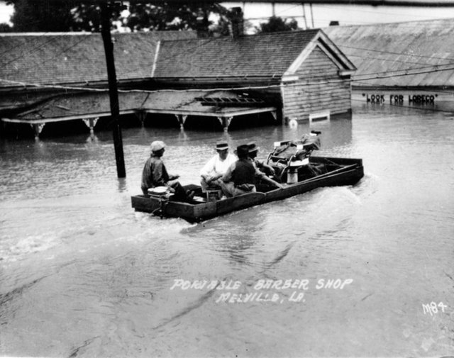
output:
[{"label": "submerged porch roof with scrolled post brackets just above the water", "polygon": [[[275,121],[278,119],[276,106],[234,91],[120,91],[118,101],[120,115],[134,113],[142,125],[148,113],[175,116],[179,128],[184,128],[189,116],[214,118],[225,131],[233,118],[240,116],[271,113]],[[47,123],[81,120],[93,134],[99,119],[110,116],[109,92],[103,91],[54,96],[9,111],[1,121],[29,124],[38,139]]]}]

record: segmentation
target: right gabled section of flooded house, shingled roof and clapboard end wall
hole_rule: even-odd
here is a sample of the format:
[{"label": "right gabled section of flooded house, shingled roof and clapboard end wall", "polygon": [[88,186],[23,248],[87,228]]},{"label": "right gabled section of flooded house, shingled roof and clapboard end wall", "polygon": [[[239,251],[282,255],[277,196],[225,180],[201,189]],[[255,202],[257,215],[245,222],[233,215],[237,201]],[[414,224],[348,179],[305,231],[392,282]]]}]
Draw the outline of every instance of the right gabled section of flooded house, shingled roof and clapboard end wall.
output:
[{"label": "right gabled section of flooded house, shingled roof and clapboard end wall", "polygon": [[355,67],[322,30],[162,42],[153,79],[162,86],[227,87],[308,119],[349,113]]}]

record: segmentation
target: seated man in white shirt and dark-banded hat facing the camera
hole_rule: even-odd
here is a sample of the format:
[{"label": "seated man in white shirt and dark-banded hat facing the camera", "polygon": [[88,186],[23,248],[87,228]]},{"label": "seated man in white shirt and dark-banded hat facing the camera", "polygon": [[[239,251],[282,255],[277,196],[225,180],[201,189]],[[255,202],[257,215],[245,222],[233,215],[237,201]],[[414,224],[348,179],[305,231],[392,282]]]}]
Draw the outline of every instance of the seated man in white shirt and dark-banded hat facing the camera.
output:
[{"label": "seated man in white shirt and dark-banded hat facing the camera", "polygon": [[218,154],[212,157],[200,171],[202,191],[221,189],[221,177],[237,160],[235,155],[228,152],[226,142],[216,143],[216,152]]}]

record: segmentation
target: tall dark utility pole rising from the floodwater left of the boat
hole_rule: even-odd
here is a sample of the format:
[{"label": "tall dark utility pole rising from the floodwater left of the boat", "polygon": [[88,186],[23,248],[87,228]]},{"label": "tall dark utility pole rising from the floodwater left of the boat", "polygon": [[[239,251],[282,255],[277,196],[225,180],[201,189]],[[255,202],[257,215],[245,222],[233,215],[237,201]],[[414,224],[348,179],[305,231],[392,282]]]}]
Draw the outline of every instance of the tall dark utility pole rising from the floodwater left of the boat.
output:
[{"label": "tall dark utility pole rising from the floodwater left of the boat", "polygon": [[109,97],[111,102],[112,134],[114,135],[114,148],[116,160],[116,173],[118,178],[126,177],[125,158],[123,154],[123,140],[120,127],[120,106],[118,104],[118,91],[116,86],[114,44],[111,38],[111,5],[101,3],[101,35],[106,52],[107,77],[109,79]]}]

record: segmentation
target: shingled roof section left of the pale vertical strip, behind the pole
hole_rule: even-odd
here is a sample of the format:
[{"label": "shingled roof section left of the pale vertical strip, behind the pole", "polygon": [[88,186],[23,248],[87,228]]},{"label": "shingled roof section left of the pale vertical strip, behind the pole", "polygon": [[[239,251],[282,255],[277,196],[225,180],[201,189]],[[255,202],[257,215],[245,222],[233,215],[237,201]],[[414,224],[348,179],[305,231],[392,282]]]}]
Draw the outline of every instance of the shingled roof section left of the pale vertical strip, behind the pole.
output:
[{"label": "shingled roof section left of the pale vertical strip, behind the pole", "polygon": [[[193,31],[113,34],[117,79],[150,78],[158,40],[195,36]],[[0,54],[0,79],[34,84],[107,80],[99,33],[0,33]],[[0,88],[11,86],[0,82]]]}]

